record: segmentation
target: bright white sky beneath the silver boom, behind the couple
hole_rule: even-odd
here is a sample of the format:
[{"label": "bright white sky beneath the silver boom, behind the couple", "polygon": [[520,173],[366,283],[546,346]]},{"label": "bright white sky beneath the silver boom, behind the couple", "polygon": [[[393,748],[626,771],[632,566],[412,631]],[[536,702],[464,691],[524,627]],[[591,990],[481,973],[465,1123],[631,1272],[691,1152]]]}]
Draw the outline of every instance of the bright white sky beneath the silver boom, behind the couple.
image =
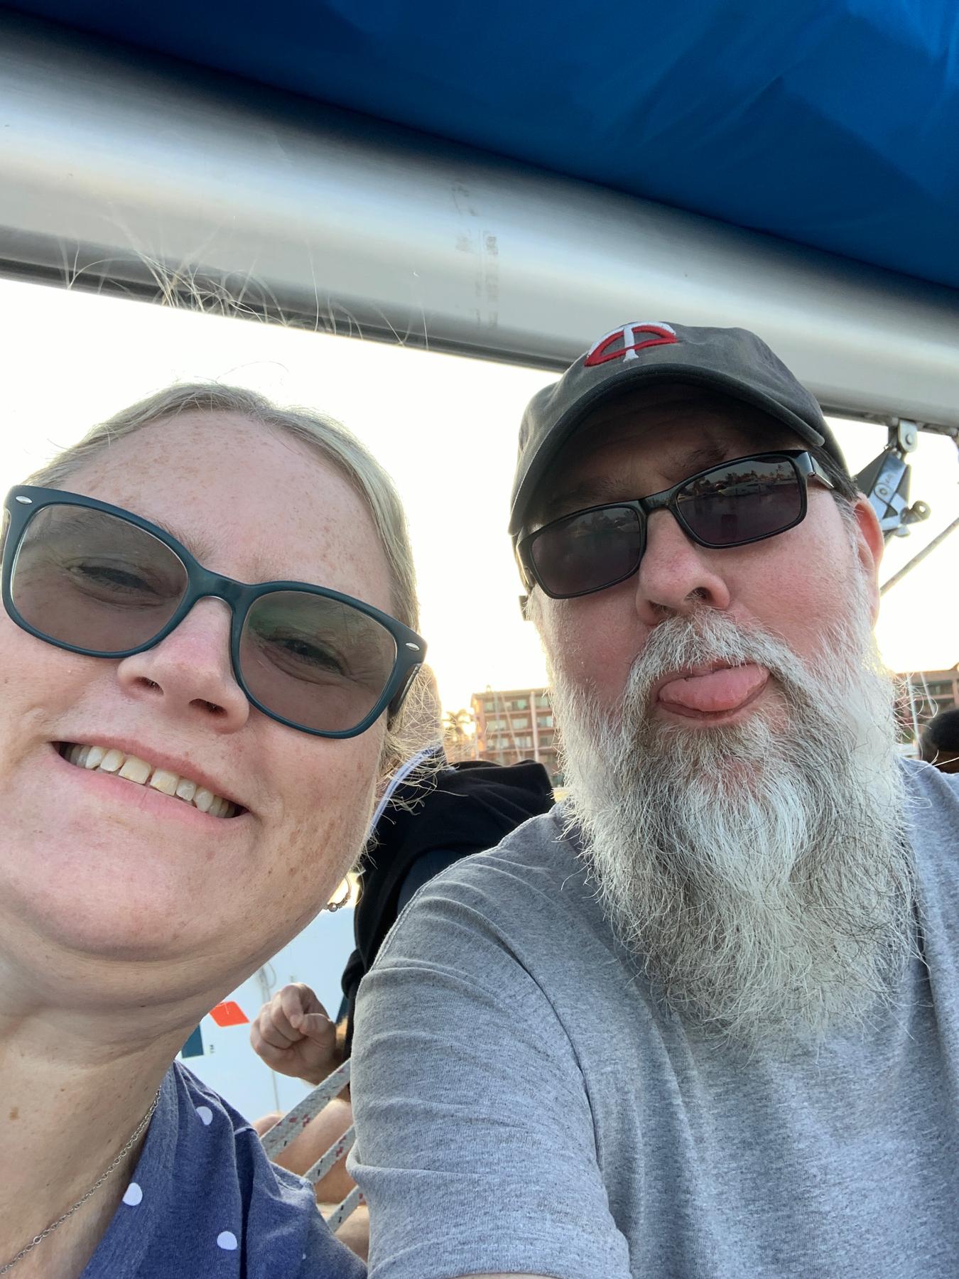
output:
[{"label": "bright white sky beneath the silver boom, behind the couple", "polygon": [[[549,375],[4,280],[0,349],[0,491],[171,381],[212,379],[325,409],[372,449],[405,501],[444,705],[465,706],[487,684],[545,682],[504,530],[519,417]],[[885,444],[885,427],[834,425],[853,471]],[[923,435],[914,457],[912,498],[932,517],[893,540],[884,578],[959,514],[955,444]],[[958,582],[955,533],[886,596],[878,636],[894,670],[959,661]]]}]

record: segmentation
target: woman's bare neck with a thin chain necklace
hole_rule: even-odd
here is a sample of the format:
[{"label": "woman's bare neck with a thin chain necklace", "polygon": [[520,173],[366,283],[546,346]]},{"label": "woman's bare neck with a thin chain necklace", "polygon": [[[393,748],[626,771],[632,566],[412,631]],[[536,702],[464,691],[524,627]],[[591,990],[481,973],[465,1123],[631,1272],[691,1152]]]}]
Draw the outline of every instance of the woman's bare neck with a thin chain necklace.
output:
[{"label": "woman's bare neck with a thin chain necklace", "polygon": [[[10,1003],[0,1010],[0,1267],[91,1189],[156,1096],[185,1031],[168,1026],[151,1036],[142,1010],[129,1013],[78,1016]],[[143,1137],[104,1186],[17,1264],[12,1279],[82,1273]]]}]

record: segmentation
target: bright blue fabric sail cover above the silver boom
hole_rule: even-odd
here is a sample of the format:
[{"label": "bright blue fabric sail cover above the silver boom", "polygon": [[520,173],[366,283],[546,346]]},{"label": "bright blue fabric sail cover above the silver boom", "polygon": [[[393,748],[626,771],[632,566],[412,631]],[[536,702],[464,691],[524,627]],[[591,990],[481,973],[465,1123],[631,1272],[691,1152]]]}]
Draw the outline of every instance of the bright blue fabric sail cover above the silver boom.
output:
[{"label": "bright blue fabric sail cover above the silver boom", "polygon": [[18,8],[959,286],[956,0]]}]

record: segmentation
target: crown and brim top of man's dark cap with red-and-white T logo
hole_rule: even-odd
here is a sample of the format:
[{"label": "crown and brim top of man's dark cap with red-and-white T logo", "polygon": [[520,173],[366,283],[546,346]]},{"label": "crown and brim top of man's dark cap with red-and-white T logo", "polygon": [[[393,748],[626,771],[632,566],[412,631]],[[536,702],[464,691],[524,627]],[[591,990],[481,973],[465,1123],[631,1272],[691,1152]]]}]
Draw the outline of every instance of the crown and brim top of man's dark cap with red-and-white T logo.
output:
[{"label": "crown and brim top of man's dark cap with red-and-white T logo", "polygon": [[822,446],[848,475],[816,398],[748,329],[635,321],[604,334],[552,386],[529,400],[519,427],[509,531],[522,531],[550,463],[597,404],[652,382],[688,382],[744,400]]}]

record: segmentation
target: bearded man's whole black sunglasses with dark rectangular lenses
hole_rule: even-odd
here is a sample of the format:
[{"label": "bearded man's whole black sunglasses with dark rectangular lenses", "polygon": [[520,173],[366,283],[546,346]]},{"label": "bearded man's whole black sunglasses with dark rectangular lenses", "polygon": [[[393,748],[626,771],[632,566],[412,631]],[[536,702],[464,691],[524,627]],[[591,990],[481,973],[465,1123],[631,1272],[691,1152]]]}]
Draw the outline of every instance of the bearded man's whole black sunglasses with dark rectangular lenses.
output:
[{"label": "bearded man's whole black sunglasses with dark rectangular lenses", "polygon": [[804,449],[735,458],[698,471],[662,492],[611,501],[554,519],[520,538],[520,567],[554,600],[591,595],[632,577],[646,550],[646,526],[670,510],[699,546],[745,546],[806,517],[811,478],[832,481]]}]

